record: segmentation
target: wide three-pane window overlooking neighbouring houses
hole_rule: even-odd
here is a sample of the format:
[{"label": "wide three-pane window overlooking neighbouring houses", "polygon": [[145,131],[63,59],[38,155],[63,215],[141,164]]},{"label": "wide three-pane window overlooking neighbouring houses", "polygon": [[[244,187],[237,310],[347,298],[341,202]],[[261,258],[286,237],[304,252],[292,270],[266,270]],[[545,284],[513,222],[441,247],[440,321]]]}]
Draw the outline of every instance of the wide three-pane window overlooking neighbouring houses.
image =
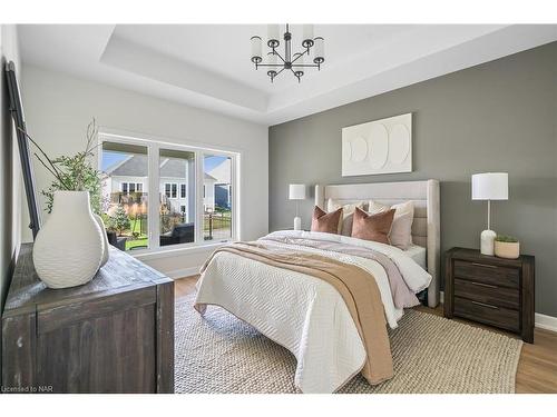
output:
[{"label": "wide three-pane window overlooking neighbouring houses", "polygon": [[126,250],[237,237],[240,155],[100,133],[104,218]]}]

